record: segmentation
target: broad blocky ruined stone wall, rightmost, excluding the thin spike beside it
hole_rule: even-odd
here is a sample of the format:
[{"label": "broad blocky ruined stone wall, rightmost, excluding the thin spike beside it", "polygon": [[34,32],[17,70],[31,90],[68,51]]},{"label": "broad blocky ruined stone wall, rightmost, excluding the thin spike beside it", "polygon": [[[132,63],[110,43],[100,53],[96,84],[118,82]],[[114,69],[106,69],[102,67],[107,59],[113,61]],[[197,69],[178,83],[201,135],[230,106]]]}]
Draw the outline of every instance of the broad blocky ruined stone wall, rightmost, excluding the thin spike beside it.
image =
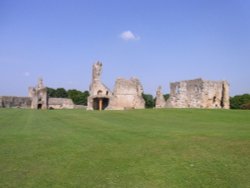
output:
[{"label": "broad blocky ruined stone wall, rightmost, excluding the thin spike beside it", "polygon": [[170,83],[169,108],[229,108],[229,84],[201,78]]}]

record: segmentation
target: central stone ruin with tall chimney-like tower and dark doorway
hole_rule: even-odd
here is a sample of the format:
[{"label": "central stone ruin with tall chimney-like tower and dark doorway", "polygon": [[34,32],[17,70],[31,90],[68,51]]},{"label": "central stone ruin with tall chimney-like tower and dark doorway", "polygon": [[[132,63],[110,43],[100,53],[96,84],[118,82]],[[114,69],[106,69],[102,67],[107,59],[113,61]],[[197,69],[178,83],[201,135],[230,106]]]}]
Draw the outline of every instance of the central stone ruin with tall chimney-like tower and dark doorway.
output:
[{"label": "central stone ruin with tall chimney-like tower and dark doorway", "polygon": [[93,65],[92,81],[88,97],[88,110],[123,110],[143,109],[145,101],[142,97],[143,87],[137,78],[129,80],[118,78],[114,92],[101,82],[102,63]]}]

